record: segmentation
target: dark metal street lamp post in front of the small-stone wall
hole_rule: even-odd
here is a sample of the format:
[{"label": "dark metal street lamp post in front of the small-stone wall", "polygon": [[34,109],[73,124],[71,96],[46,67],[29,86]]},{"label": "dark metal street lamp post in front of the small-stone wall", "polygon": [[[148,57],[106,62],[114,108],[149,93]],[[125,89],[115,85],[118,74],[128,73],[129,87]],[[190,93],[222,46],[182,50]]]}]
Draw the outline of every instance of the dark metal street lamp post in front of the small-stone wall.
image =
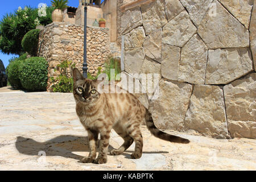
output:
[{"label": "dark metal street lamp post in front of the small-stone wall", "polygon": [[87,78],[87,62],[86,62],[86,25],[87,25],[87,6],[90,4],[90,0],[82,0],[82,6],[84,6],[84,63],[82,63],[82,75]]}]

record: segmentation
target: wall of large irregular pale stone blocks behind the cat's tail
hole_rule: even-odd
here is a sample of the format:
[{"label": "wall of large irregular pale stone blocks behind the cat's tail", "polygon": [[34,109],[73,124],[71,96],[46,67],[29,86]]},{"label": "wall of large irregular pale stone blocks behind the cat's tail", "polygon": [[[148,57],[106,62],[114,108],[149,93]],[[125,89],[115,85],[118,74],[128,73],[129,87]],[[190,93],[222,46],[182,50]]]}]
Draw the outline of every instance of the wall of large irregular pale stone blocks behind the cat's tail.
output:
[{"label": "wall of large irregular pale stone blocks behind the cat's tail", "polygon": [[253,4],[156,0],[121,14],[125,71],[160,73],[149,104],[157,127],[256,138]]}]

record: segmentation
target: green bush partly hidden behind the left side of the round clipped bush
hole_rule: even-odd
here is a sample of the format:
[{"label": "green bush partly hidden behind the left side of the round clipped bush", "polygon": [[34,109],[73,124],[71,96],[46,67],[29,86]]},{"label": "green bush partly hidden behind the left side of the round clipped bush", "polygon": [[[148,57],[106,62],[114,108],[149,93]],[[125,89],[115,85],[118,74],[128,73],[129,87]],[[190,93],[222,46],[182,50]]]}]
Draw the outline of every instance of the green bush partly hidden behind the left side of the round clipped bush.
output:
[{"label": "green bush partly hidden behind the left side of the round clipped bush", "polygon": [[18,60],[17,58],[13,59],[6,68],[8,81],[14,88],[22,88],[22,84],[19,79],[19,67],[23,64],[23,61],[24,60]]}]

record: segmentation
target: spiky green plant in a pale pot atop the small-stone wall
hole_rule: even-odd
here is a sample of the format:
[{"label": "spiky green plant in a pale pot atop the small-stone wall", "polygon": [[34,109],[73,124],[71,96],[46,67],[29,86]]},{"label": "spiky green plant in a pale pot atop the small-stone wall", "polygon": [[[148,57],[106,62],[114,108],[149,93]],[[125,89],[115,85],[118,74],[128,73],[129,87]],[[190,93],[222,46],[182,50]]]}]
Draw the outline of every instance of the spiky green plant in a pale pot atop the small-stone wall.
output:
[{"label": "spiky green plant in a pale pot atop the small-stone wall", "polygon": [[51,1],[55,10],[52,11],[52,22],[62,22],[63,10],[67,7],[68,0],[53,0]]}]

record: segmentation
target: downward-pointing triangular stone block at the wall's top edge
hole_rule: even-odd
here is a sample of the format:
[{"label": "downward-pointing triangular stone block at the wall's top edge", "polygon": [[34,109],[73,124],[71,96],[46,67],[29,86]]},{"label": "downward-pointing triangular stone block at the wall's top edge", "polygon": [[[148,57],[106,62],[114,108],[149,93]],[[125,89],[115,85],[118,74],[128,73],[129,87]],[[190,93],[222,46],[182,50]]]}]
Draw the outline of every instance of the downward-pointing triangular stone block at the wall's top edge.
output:
[{"label": "downward-pointing triangular stone block at the wall's top edge", "polygon": [[180,0],[180,2],[188,10],[189,17],[198,27],[204,15],[212,7],[213,0]]}]

